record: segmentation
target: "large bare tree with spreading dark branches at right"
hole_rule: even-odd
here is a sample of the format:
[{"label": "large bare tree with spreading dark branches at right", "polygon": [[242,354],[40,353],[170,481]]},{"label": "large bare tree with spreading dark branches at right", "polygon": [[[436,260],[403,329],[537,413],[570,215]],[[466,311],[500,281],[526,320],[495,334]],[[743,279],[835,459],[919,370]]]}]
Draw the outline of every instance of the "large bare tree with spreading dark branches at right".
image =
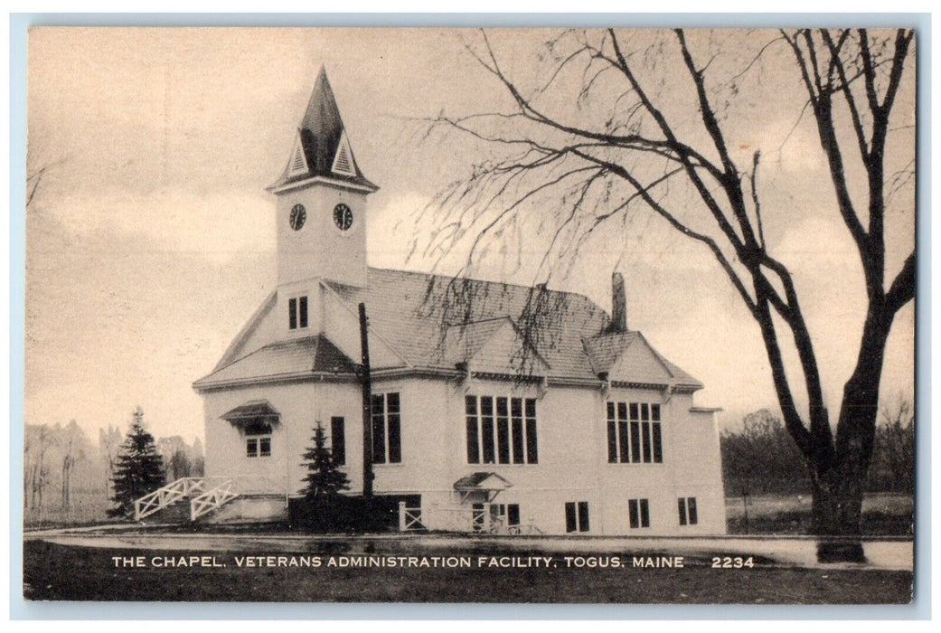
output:
[{"label": "large bare tree with spreading dark branches at right", "polygon": [[[558,242],[577,254],[599,225],[638,206],[652,211],[711,253],[758,325],[785,426],[813,485],[814,532],[856,535],[885,342],[894,317],[915,297],[914,239],[894,278],[885,250],[886,205],[893,193],[911,188],[914,171],[914,142],[901,146],[911,157],[907,166],[885,169],[888,139],[911,128],[893,127],[893,114],[900,88],[914,81],[914,34],[800,29],[745,38],[755,55],[732,72],[716,62],[727,40],[722,33],[566,31],[546,43],[542,57],[550,68],[517,78],[521,72],[506,70],[508,56],[483,33],[468,50],[509,106],[432,122],[433,130],[456,131],[490,155],[429,205],[425,213],[439,214],[439,230],[427,252],[456,251],[470,239],[470,263],[517,233],[524,211],[536,206],[540,221],[554,222],[545,264]],[[739,157],[731,144],[734,118],[726,117],[728,104],[747,96],[742,77],[773,49],[776,61],[789,58],[789,67],[775,71],[790,73],[805,92],[804,110],[791,114],[795,125],[805,112],[813,117],[835,212],[865,278],[863,334],[835,428],[792,271],[769,248],[768,219],[776,209],[761,204],[760,151]],[[684,198],[678,189],[689,193]],[[540,204],[547,201],[551,211]],[[901,206],[911,217],[914,204]],[[798,359],[790,373],[789,350]],[[806,407],[798,406],[802,394]],[[848,556],[861,556],[861,547],[851,549]]]}]

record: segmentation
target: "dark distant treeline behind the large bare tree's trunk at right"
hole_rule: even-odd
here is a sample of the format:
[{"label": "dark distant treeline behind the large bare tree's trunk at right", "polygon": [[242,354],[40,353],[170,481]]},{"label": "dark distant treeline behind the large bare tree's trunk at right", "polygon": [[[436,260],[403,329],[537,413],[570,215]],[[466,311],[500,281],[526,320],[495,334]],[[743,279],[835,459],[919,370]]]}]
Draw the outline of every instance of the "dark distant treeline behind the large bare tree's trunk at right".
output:
[{"label": "dark distant treeline behind the large bare tree's trunk at right", "polygon": [[[781,418],[767,409],[746,415],[740,430],[725,430],[721,445],[727,496],[811,492],[797,446]],[[914,490],[915,414],[900,398],[880,413],[866,491]]]}]

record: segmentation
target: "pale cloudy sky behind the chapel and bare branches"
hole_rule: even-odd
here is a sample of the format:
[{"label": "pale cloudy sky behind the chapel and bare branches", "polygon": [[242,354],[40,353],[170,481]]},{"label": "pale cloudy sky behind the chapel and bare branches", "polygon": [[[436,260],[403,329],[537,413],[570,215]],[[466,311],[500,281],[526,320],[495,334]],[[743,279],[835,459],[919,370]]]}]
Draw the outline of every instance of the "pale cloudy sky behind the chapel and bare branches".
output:
[{"label": "pale cloudy sky behind the chapel and bare branches", "polygon": [[[540,78],[541,44],[552,33],[490,37],[508,73],[524,85]],[[761,37],[729,38],[714,71],[742,70],[747,57],[735,42],[751,46]],[[276,284],[274,196],[264,187],[287,160],[321,65],[359,167],[381,187],[368,210],[370,265],[455,270],[456,257],[423,254],[439,226],[422,211],[492,150],[453,133],[428,134],[426,121],[509,106],[470,55],[480,42],[473,31],[432,29],[32,29],[27,165],[43,172],[26,211],[26,423],[75,419],[92,431],[126,425],[140,405],[157,435],[202,436],[191,384]],[[713,43],[707,34],[694,42]],[[736,159],[747,165],[755,149],[765,157],[769,240],[794,272],[825,397],[836,410],[865,295],[784,53],[772,49],[732,86],[736,98],[722,112]],[[649,51],[639,59],[651,73],[671,63]],[[912,76],[898,106],[902,153],[911,151],[904,130],[914,124]],[[581,81],[561,77],[558,102],[548,106],[572,103]],[[684,88],[668,81],[661,89],[671,91],[668,115],[693,126],[694,118],[683,118]],[[590,120],[606,107],[603,100],[579,106],[575,116]],[[681,189],[670,195],[679,204],[689,198]],[[893,274],[914,241],[911,195],[902,190],[887,216]],[[495,244],[474,273],[541,281],[533,263],[546,235],[537,223],[523,228],[515,241]],[[515,254],[522,266],[513,264]],[[562,268],[551,287],[581,292],[605,309],[611,272],[623,272],[630,329],[706,383],[697,403],[724,408],[724,424],[774,408],[758,328],[699,246],[638,211],[578,252],[567,274]],[[889,339],[885,398],[913,392],[913,349],[910,304]]]}]

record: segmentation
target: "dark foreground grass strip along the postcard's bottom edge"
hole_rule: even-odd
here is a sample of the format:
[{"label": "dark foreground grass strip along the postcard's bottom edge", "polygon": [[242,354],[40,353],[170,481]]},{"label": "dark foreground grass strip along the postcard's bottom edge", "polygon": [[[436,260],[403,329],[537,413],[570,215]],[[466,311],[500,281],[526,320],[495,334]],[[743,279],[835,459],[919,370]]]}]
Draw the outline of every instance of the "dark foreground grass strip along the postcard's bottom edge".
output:
[{"label": "dark foreground grass strip along the postcard's bottom edge", "polygon": [[[912,574],[763,566],[710,569],[239,568],[233,554],[205,552],[225,567],[116,568],[111,557],[191,556],[199,552],[24,543],[25,597],[32,600],[247,602],[518,602],[905,604]],[[499,554],[498,554],[499,555]],[[514,553],[518,556],[518,552]]]}]

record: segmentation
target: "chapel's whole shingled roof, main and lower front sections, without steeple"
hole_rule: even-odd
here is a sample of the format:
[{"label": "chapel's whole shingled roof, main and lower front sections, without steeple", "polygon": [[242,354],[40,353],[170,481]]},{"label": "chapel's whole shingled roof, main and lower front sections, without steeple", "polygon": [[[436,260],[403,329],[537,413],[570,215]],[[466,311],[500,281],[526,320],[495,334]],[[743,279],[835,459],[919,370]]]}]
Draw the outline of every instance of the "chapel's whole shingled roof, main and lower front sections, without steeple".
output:
[{"label": "chapel's whole shingled roof, main and lower front sections, without steeple", "polygon": [[[403,361],[387,367],[390,372],[454,372],[456,363],[469,362],[470,370],[478,373],[592,383],[616,364],[616,381],[702,387],[650,348],[641,333],[605,333],[608,315],[576,293],[382,268],[368,268],[366,280],[366,287],[326,280],[322,284],[350,308],[354,321],[356,306],[366,304],[370,333]],[[260,310],[232,343],[222,366],[194,387],[249,383],[253,378],[296,379],[310,376],[311,370],[355,371],[349,349],[344,355],[323,334],[247,353],[247,340],[266,319],[275,317],[270,309]],[[520,351],[528,359],[515,363]]]}]

